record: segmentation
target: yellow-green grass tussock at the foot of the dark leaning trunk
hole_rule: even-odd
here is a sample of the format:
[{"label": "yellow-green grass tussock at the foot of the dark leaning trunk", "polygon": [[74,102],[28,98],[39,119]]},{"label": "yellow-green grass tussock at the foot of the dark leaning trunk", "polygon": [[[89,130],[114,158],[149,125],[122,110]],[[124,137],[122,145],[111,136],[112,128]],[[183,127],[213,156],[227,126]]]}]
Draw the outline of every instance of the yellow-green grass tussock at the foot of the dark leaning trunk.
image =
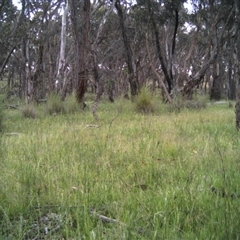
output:
[{"label": "yellow-green grass tussock at the foot of the dark leaning trunk", "polygon": [[147,88],[142,88],[139,95],[135,98],[136,111],[143,114],[155,112],[152,95]]}]

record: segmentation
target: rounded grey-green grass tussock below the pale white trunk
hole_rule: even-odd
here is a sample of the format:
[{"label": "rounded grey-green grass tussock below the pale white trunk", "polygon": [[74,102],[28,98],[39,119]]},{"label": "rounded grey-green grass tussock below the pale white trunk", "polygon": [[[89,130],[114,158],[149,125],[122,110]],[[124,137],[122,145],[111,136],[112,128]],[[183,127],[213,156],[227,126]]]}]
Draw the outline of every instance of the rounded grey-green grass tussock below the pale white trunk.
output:
[{"label": "rounded grey-green grass tussock below the pale white trunk", "polygon": [[49,115],[64,113],[64,103],[61,97],[56,93],[51,93],[46,104],[46,112]]}]

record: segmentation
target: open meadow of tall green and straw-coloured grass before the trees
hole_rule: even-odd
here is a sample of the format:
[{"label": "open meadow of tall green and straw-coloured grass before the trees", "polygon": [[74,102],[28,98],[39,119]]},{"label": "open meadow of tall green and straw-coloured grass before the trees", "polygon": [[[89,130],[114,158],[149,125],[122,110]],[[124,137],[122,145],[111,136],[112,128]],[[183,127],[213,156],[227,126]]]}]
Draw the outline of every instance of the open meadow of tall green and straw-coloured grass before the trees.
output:
[{"label": "open meadow of tall green and straw-coloured grass before the trees", "polygon": [[6,110],[0,239],[240,239],[234,109],[165,108]]}]

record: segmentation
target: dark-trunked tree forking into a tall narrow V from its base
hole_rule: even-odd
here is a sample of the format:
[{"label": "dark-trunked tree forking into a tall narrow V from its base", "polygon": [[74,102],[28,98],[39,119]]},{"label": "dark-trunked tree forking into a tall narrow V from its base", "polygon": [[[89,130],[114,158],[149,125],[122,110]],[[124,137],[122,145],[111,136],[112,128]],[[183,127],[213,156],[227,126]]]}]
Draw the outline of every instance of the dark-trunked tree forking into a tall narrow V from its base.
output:
[{"label": "dark-trunked tree forking into a tall narrow V from its base", "polygon": [[[165,94],[172,93],[177,82],[177,44],[180,42],[179,31],[183,27],[185,15],[184,1],[155,1],[138,0],[137,7],[142,15],[142,24],[148,27],[145,36],[147,42],[145,49],[149,50],[149,61],[155,62],[151,68],[163,86]],[[151,44],[150,44],[151,43]],[[153,51],[153,47],[155,50]],[[151,50],[152,49],[152,50]],[[151,53],[150,53],[151,52]],[[155,52],[155,54],[154,54]],[[155,59],[157,57],[158,60]],[[154,60],[155,59],[155,60]],[[159,66],[161,70],[159,69]],[[156,69],[154,69],[154,67]],[[164,80],[159,77],[159,72],[164,75]],[[166,92],[167,90],[167,92]]]}]

